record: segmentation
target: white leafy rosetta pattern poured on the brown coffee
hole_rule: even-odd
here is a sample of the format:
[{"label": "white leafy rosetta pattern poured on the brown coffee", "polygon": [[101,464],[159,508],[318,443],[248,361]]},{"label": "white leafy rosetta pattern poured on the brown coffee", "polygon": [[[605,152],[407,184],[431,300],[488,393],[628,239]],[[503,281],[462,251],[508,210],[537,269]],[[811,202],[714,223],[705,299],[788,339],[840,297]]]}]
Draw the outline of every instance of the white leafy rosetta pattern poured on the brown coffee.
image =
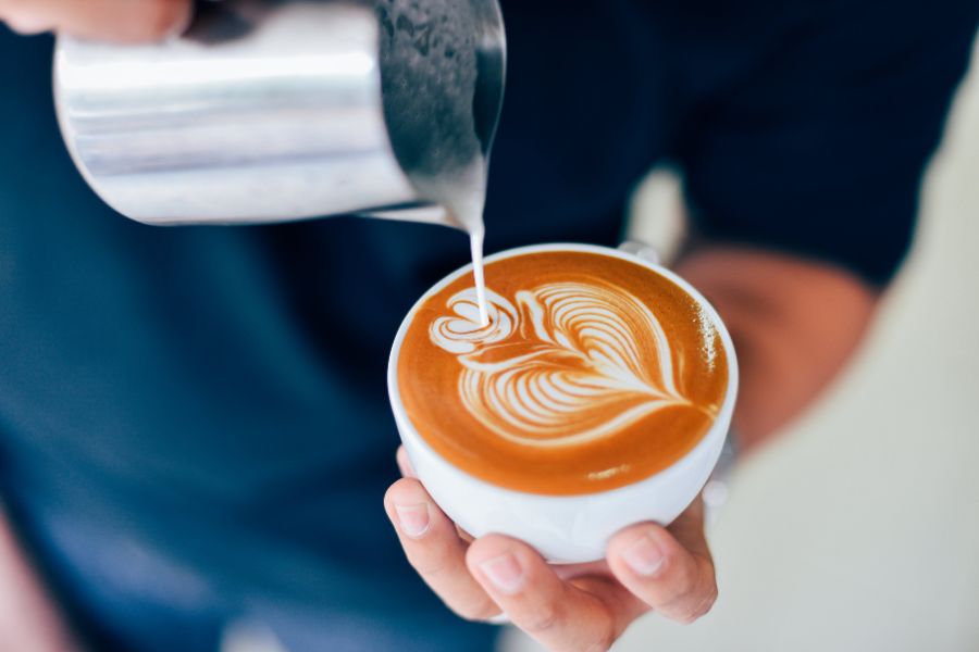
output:
[{"label": "white leafy rosetta pattern poured on the brown coffee", "polygon": [[518,291],[516,305],[488,290],[490,322],[475,289],[448,300],[429,329],[462,365],[459,398],[482,425],[515,443],[567,447],[607,438],[657,411],[707,411],[677,389],[670,342],[630,292],[596,283]]}]

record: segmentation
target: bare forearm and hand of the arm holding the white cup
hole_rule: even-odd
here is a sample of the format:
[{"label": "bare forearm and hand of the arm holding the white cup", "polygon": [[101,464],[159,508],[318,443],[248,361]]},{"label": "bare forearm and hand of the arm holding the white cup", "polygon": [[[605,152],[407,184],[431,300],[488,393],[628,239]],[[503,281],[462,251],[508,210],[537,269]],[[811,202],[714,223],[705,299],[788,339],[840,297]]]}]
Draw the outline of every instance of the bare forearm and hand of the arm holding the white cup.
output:
[{"label": "bare forearm and hand of the arm holding the white cup", "polygon": [[[701,248],[677,269],[710,299],[734,339],[743,451],[818,397],[860,342],[877,303],[846,272],[764,251]],[[699,500],[668,527],[643,523],[618,532],[604,562],[558,568],[509,537],[470,541],[413,477],[404,449],[398,463],[405,478],[388,489],[385,511],[408,561],[463,618],[506,613],[548,650],[591,652],[607,650],[645,613],[692,623],[717,599]]]}]

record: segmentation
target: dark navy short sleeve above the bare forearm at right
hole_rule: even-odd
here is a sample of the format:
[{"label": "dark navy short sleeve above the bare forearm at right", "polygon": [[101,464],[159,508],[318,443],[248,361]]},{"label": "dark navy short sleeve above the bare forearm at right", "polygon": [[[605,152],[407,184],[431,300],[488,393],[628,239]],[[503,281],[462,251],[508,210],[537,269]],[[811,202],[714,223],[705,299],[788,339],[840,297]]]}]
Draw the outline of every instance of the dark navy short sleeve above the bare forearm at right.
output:
[{"label": "dark navy short sleeve above the bare forearm at right", "polygon": [[853,3],[785,29],[691,112],[679,159],[696,228],[885,284],[914,235],[977,8]]}]

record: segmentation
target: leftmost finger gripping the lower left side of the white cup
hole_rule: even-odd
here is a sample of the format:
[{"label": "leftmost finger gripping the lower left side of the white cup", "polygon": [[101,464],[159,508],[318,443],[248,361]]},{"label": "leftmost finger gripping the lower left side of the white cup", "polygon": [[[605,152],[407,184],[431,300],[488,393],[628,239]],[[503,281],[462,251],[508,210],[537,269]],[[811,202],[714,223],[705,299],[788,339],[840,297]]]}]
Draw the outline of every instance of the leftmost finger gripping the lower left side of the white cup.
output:
[{"label": "leftmost finger gripping the lower left side of the white cup", "polygon": [[470,620],[499,615],[499,607],[466,567],[466,543],[455,524],[414,478],[395,482],[384,497],[408,562],[454,612]]}]

